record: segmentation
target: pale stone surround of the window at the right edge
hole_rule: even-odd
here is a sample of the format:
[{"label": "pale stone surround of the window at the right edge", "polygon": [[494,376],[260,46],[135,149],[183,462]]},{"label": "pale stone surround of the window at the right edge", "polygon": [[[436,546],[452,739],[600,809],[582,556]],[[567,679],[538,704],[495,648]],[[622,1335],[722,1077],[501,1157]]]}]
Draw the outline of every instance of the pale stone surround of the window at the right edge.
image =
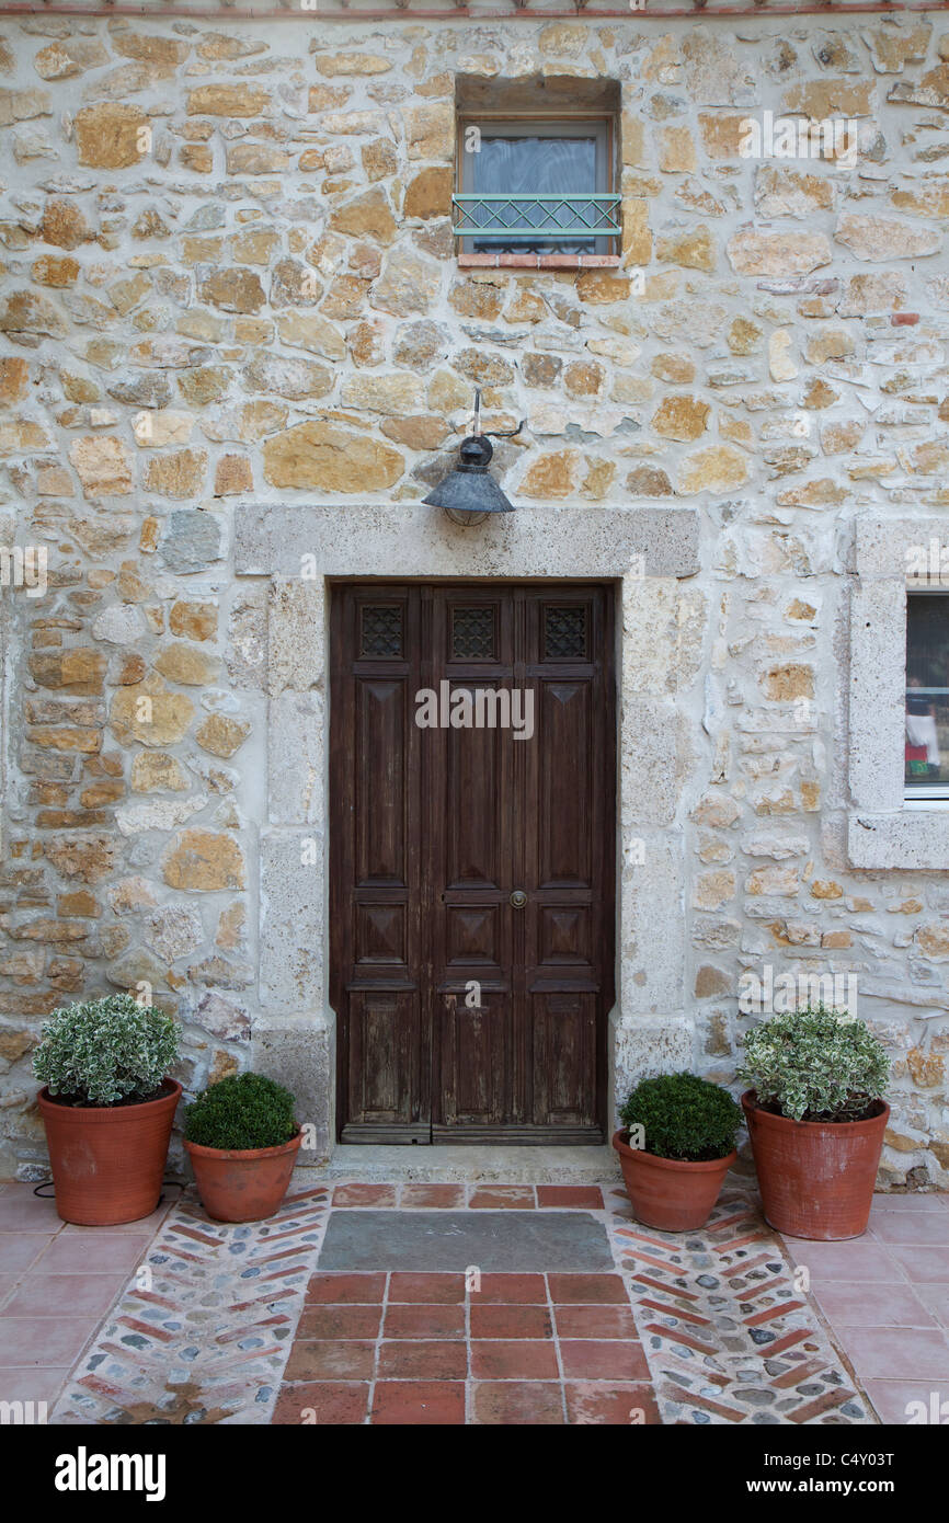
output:
[{"label": "pale stone surround of the window at the right edge", "polygon": [[940,588],[908,573],[909,553],[940,544],[938,518],[864,519],[856,524],[856,582],[850,599],[850,812],[852,867],[949,868],[949,797],[906,795],[906,599]]}]

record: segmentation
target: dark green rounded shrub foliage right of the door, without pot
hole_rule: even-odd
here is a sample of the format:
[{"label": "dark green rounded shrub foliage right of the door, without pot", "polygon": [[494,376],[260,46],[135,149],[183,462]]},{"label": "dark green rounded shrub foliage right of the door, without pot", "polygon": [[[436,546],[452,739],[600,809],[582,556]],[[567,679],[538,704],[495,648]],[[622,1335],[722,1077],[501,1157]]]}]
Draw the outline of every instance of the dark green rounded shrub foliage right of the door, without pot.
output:
[{"label": "dark green rounded shrub foliage right of the door, without pot", "polygon": [[742,1110],[727,1089],[698,1074],[661,1074],[637,1084],[620,1121],[628,1130],[643,1127],[643,1151],[702,1164],[731,1153]]}]

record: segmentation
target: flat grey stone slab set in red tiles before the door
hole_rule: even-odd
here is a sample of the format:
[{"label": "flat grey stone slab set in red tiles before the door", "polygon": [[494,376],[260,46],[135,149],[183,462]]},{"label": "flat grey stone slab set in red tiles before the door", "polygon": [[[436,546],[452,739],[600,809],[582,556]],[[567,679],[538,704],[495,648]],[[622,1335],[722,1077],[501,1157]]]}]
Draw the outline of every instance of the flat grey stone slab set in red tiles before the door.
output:
[{"label": "flat grey stone slab set in red tiles before the door", "polygon": [[606,1228],[586,1211],[334,1211],[320,1269],[603,1273]]}]

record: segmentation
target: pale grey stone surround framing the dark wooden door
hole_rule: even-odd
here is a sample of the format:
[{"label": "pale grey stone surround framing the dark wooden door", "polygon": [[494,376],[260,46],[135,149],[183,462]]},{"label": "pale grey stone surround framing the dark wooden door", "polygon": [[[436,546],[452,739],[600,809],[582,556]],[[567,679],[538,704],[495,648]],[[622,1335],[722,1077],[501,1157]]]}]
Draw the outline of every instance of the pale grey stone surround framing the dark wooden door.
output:
[{"label": "pale grey stone surround framing the dark wooden door", "polygon": [[[328,599],[334,579],[615,580],[618,597],[617,1001],[609,1066],[623,1087],[643,1040],[692,1062],[685,1014],[682,836],[675,774],[682,728],[675,701],[637,687],[632,652],[657,582],[695,576],[695,509],[529,507],[462,528],[422,504],[242,506],[239,577],[270,582],[267,816],[259,830],[260,982],[253,1063],[288,1083],[334,1148],[335,1013],[328,998]],[[621,615],[621,617],[620,617]],[[623,864],[643,859],[635,874]],[[661,928],[661,937],[655,928]]]}]

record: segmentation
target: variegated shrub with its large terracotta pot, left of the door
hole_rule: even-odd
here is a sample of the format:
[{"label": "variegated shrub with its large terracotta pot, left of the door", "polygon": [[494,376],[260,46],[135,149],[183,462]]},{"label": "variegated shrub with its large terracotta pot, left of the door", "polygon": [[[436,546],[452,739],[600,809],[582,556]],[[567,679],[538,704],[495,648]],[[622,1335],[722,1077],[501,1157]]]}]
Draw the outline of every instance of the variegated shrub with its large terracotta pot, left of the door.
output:
[{"label": "variegated shrub with its large terracotta pot, left of the door", "polygon": [[53,1011],[34,1054],[56,1211],[116,1226],[158,1205],[181,1084],[178,1022],[131,995]]}]

